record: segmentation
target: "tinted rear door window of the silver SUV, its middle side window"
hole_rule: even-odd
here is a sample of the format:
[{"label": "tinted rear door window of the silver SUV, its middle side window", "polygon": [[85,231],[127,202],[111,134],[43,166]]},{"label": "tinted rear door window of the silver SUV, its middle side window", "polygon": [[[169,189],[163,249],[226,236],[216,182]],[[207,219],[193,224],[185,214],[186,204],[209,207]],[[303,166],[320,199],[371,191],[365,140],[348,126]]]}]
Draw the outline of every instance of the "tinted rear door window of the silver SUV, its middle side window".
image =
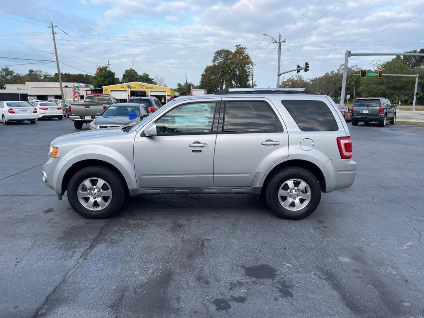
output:
[{"label": "tinted rear door window of the silver SUV, its middle side window", "polygon": [[282,132],[283,127],[268,103],[264,101],[227,101],[223,133]]}]

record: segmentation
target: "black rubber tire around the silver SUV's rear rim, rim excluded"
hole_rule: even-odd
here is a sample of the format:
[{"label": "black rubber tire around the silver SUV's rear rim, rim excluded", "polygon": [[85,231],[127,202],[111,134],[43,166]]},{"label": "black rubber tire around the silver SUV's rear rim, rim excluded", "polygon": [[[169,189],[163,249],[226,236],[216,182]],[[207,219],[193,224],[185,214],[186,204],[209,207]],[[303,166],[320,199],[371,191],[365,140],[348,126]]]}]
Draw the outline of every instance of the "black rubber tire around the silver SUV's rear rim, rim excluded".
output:
[{"label": "black rubber tire around the silver SUV's rear rim, rim excluded", "polygon": [[[311,196],[309,203],[296,212],[282,206],[278,196],[278,192],[282,185],[290,179],[300,179],[310,188]],[[283,219],[300,220],[306,218],[315,211],[321,201],[321,187],[317,178],[310,171],[300,167],[287,167],[274,173],[265,191],[266,201],[271,211]]]}]

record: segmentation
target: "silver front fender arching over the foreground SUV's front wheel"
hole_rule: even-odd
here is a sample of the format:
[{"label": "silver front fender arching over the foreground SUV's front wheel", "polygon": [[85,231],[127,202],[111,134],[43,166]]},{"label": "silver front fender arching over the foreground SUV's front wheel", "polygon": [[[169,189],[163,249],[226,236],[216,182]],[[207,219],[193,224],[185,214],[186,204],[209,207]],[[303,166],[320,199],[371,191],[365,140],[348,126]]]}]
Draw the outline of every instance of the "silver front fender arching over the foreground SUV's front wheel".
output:
[{"label": "silver front fender arching over the foreground SUV's front wheel", "polygon": [[121,153],[115,149],[103,145],[81,145],[67,152],[63,159],[70,165],[83,160],[101,160],[116,167],[122,173],[128,189],[136,189],[137,181],[134,171],[133,147],[126,153]]}]

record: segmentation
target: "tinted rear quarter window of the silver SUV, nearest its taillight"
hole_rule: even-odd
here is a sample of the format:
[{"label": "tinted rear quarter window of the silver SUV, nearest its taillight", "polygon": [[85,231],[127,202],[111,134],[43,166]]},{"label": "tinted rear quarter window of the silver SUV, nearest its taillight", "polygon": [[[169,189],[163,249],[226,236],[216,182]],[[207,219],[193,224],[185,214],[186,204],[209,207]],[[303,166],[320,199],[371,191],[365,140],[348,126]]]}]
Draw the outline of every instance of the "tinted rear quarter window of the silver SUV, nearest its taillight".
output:
[{"label": "tinted rear quarter window of the silver SUV, nearest its taillight", "polygon": [[329,106],[321,100],[282,100],[301,131],[338,131]]}]

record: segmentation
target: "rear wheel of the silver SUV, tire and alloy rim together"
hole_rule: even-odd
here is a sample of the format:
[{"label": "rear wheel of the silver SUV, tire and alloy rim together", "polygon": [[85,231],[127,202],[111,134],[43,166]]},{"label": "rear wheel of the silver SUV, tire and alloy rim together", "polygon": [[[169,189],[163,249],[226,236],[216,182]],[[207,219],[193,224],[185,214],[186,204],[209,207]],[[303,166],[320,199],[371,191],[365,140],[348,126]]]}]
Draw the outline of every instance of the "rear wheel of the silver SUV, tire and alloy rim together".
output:
[{"label": "rear wheel of the silver SUV, tire and alloy rim together", "polygon": [[299,220],[315,211],[321,201],[317,178],[300,167],[287,167],[275,173],[265,190],[268,206],[284,219]]}]

